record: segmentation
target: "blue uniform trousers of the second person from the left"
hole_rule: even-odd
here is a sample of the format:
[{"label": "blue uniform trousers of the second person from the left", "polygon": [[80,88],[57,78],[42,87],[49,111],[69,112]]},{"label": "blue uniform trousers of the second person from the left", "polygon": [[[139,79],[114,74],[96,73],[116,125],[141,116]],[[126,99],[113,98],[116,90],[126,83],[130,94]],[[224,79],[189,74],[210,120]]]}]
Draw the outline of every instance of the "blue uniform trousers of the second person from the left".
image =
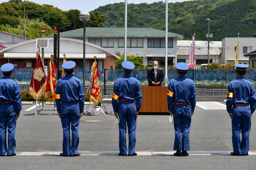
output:
[{"label": "blue uniform trousers of the second person from the left", "polygon": [[[78,153],[79,143],[79,118],[80,110],[78,102],[62,102],[61,103],[61,124],[63,128],[63,155],[70,156]],[[72,138],[70,144],[70,123]]]}]

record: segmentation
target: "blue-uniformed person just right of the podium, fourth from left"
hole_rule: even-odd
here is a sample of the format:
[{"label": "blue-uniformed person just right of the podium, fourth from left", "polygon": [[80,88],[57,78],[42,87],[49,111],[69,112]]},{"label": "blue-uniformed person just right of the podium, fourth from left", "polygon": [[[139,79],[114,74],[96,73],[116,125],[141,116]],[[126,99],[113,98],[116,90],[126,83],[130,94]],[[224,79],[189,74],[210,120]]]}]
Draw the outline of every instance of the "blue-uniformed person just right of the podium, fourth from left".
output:
[{"label": "blue-uniformed person just right of the podium, fourth from left", "polygon": [[193,80],[185,77],[188,64],[177,63],[176,69],[178,77],[170,80],[167,93],[168,109],[173,116],[175,129],[173,150],[177,151],[173,155],[188,156],[191,116],[196,107],[196,88]]}]

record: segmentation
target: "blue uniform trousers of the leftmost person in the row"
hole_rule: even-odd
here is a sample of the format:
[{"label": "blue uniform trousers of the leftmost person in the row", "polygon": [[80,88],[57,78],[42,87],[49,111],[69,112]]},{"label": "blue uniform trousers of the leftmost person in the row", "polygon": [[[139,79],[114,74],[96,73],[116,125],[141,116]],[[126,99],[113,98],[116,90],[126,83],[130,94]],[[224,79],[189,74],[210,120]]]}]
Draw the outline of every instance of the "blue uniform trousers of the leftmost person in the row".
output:
[{"label": "blue uniform trousers of the leftmost person in the row", "polygon": [[[13,103],[0,104],[0,155],[12,155],[16,147],[16,112]],[[6,145],[6,129],[8,128],[8,149]]]}]

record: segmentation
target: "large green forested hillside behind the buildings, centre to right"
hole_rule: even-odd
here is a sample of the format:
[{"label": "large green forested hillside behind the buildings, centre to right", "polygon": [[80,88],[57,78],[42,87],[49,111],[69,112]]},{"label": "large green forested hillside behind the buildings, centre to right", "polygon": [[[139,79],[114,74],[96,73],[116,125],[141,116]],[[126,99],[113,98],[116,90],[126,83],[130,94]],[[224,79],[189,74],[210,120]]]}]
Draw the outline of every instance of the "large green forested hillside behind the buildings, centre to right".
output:
[{"label": "large green forested hillside behind the buildings, centre to right", "polygon": [[[125,3],[114,3],[95,9],[105,16],[106,27],[124,27]],[[212,41],[224,37],[252,37],[256,33],[256,0],[194,0],[168,4],[168,31],[191,39],[207,40],[208,21]],[[165,3],[127,5],[128,27],[152,27],[165,30]]]}]

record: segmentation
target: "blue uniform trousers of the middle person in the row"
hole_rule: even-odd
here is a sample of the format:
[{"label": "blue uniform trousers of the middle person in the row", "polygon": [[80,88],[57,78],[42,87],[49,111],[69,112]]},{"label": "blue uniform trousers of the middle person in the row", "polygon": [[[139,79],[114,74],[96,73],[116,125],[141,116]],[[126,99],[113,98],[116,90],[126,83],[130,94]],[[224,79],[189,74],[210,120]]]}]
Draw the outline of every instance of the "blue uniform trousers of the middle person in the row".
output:
[{"label": "blue uniform trousers of the middle person in the row", "polygon": [[126,147],[126,123],[129,135],[129,150],[128,154],[135,153],[136,143],[136,104],[134,101],[119,101],[118,116],[119,116],[119,151],[120,154],[127,154]]}]

